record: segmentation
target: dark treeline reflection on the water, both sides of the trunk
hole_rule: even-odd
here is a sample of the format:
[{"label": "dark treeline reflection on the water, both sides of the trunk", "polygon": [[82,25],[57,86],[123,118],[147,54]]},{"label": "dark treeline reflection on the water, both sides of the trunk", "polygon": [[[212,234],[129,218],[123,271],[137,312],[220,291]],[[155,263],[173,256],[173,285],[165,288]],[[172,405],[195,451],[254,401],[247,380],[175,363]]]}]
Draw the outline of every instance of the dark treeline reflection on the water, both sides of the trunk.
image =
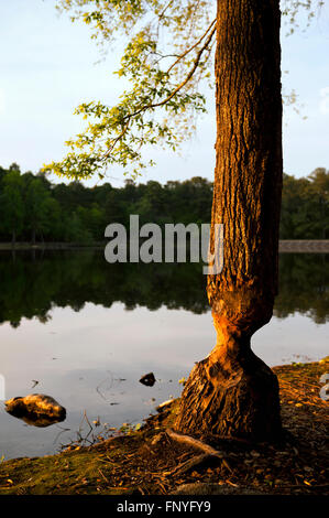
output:
[{"label": "dark treeline reflection on the water, both sides of the trunk", "polygon": [[[0,322],[13,327],[21,319],[50,320],[53,307],[80,311],[86,302],[110,307],[122,302],[127,310],[162,305],[194,313],[209,310],[201,266],[109,265],[102,252],[47,252],[32,260],[29,253],[0,255]],[[329,320],[329,257],[281,255],[279,295],[275,315],[299,311],[315,322]]]}]

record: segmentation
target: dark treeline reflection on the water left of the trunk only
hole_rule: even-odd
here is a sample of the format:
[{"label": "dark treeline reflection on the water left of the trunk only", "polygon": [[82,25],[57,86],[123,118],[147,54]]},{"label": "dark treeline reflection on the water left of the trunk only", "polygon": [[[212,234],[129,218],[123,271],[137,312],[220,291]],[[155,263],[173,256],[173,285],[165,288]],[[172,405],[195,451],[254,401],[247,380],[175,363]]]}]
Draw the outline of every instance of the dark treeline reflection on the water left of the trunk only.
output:
[{"label": "dark treeline reflection on the water left of the trunk only", "polygon": [[90,250],[32,259],[29,253],[17,253],[14,261],[10,255],[0,256],[0,322],[17,327],[22,317],[37,317],[45,323],[52,307],[78,312],[86,302],[105,307],[122,302],[127,310],[165,305],[208,311],[200,265],[109,265],[102,252]]}]

